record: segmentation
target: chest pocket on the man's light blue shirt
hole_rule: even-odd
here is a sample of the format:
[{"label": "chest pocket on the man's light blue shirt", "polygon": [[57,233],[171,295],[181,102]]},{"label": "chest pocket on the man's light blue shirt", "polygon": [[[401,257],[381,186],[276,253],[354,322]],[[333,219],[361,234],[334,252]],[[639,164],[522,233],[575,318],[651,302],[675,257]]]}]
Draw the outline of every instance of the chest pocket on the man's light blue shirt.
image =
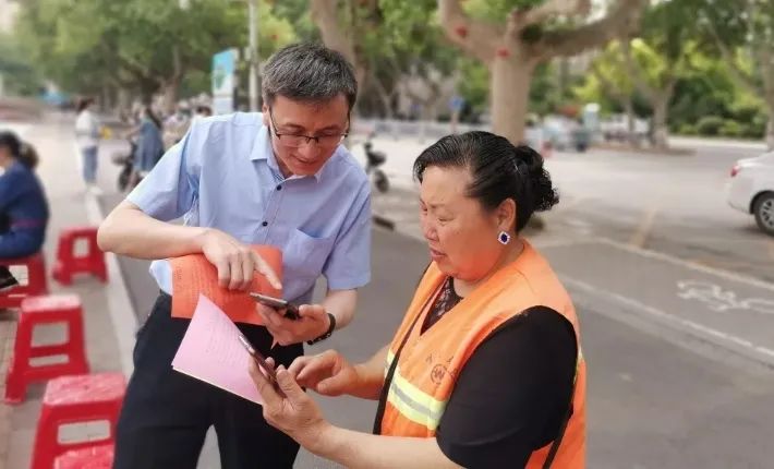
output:
[{"label": "chest pocket on the man's light blue shirt", "polygon": [[288,280],[316,279],[334,246],[334,238],[315,238],[300,229],[289,234],[283,256],[283,277]]}]

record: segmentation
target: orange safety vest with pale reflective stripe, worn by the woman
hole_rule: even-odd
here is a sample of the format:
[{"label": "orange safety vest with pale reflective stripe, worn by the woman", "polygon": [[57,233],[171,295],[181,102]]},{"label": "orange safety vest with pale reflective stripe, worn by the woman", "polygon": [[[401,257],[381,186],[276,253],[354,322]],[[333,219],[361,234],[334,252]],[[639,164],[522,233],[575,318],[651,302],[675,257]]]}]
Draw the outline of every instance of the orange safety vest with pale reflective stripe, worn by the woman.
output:
[{"label": "orange safety vest with pale reflective stripe, worn by the woman", "polygon": [[[580,348],[578,316],[569,294],[543,256],[529,243],[511,264],[495,273],[420,335],[446,276],[431,264],[416,288],[389,348],[387,370],[406,340],[387,390],[380,433],[395,436],[435,436],[457,376],[465,362],[497,327],[536,305],[545,305],[572,324],[578,339],[572,413],[552,467],[585,466],[585,362]],[[407,337],[408,334],[408,337]],[[387,383],[385,383],[387,385]],[[496,386],[497,383],[492,383]],[[542,468],[552,444],[535,450],[527,468]]]}]

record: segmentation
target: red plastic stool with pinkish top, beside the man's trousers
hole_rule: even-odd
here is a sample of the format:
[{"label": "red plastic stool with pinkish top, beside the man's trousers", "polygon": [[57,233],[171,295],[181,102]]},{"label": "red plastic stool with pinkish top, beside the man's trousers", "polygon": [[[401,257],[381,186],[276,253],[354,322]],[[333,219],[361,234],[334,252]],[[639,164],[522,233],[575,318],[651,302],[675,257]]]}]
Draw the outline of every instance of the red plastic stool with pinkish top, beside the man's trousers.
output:
[{"label": "red plastic stool with pinkish top, beside the man's trousers", "polygon": [[110,435],[99,443],[114,445],[116,424],[125,389],[126,381],[121,373],[85,374],[51,380],[43,398],[32,468],[51,469],[53,461],[62,454],[95,445],[95,442],[89,441],[60,443],[59,426],[63,424],[107,420],[110,423]]}]

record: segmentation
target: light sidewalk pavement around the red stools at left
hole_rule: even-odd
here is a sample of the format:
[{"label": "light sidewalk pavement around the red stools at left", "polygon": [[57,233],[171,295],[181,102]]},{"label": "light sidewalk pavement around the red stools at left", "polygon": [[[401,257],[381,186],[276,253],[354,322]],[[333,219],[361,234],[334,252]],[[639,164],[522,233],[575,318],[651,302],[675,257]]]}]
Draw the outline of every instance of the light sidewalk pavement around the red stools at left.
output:
[{"label": "light sidewalk pavement around the red stools at left", "polygon": [[[51,208],[51,220],[44,246],[49,289],[52,293],[75,293],[81,297],[90,371],[122,371],[129,375],[131,363],[126,360],[126,347],[133,341],[135,323],[114,258],[109,258],[108,262],[110,279],[107,285],[96,278],[76,277],[71,287],[62,287],[50,278],[60,230],[77,225],[96,225],[101,219],[94,196],[86,193],[81,180],[77,158],[74,155],[72,125],[72,118],[61,115],[47,115],[35,123],[0,123],[0,128],[10,127],[20,133],[24,140],[35,145],[40,155],[37,172]],[[109,165],[106,157],[100,159],[104,166]],[[120,335],[116,334],[117,326],[121,329]],[[15,313],[5,313],[0,317],[0,375],[3,377],[3,392],[15,329]],[[63,337],[64,330],[61,326],[40,326],[34,333],[34,342],[56,342]],[[27,388],[27,398],[23,404],[0,404],[0,469],[29,467],[44,390],[45,384],[35,384]],[[95,438],[104,435],[104,426],[88,424],[62,431],[60,437],[65,441]]]}]

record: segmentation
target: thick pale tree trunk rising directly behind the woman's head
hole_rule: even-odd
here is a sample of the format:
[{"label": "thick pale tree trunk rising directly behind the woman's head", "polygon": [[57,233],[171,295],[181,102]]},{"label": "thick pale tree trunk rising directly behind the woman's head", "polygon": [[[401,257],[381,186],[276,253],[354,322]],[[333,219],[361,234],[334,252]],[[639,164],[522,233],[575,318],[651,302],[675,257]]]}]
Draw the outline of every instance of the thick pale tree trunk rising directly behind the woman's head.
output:
[{"label": "thick pale tree trunk rising directly behind the woman's head", "polygon": [[492,131],[513,145],[524,142],[534,64],[519,56],[497,57],[492,63]]}]

